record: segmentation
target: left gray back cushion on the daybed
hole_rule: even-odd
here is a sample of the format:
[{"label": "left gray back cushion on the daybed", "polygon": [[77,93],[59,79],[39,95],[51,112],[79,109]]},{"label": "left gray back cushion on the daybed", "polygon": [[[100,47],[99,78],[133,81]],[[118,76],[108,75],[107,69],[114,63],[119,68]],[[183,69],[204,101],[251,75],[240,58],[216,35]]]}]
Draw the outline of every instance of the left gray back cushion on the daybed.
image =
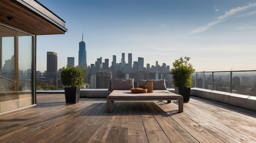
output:
[{"label": "left gray back cushion on the daybed", "polygon": [[111,79],[111,90],[126,90],[134,88],[134,78]]}]

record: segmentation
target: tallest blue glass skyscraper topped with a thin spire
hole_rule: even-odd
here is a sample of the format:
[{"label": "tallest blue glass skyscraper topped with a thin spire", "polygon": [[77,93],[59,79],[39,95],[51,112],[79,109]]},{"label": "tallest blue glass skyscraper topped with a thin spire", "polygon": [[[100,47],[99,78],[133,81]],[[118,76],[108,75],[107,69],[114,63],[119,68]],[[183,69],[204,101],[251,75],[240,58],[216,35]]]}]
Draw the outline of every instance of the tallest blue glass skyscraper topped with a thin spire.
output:
[{"label": "tallest blue glass skyscraper topped with a thin spire", "polygon": [[79,42],[79,54],[78,54],[78,66],[83,66],[83,69],[87,69],[87,55],[86,55],[86,49],[85,49],[85,42],[83,41],[83,35],[82,35],[82,41]]}]

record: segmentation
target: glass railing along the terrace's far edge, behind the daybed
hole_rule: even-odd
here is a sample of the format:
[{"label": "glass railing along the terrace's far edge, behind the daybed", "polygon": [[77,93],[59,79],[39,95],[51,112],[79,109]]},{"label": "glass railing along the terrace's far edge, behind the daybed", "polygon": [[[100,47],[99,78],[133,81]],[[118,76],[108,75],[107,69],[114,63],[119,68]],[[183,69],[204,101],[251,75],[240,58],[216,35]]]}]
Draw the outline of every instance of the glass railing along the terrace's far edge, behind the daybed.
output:
[{"label": "glass railing along the terrace's far edge, behind the daybed", "polygon": [[[98,77],[98,78],[96,78]],[[100,79],[101,78],[101,79]],[[108,88],[108,80],[111,78],[134,78],[137,80],[155,80],[163,79],[166,80],[167,88],[174,88],[172,83],[171,74],[162,73],[114,73],[114,74],[86,74],[84,88],[97,89],[97,88]],[[106,80],[106,81],[105,81]],[[94,82],[98,82],[95,84]],[[64,90],[61,84],[60,73],[36,73],[36,90]]]}]

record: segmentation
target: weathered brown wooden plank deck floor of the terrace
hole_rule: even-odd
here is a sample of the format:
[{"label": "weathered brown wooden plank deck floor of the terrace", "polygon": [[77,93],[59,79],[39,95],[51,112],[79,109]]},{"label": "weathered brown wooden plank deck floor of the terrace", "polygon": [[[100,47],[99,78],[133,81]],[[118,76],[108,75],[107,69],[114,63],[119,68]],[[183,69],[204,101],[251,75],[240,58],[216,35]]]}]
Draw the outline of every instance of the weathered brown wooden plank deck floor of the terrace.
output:
[{"label": "weathered brown wooden plank deck floor of the terrace", "polygon": [[198,97],[177,102],[115,102],[37,94],[37,106],[0,116],[0,143],[255,143],[256,111]]}]

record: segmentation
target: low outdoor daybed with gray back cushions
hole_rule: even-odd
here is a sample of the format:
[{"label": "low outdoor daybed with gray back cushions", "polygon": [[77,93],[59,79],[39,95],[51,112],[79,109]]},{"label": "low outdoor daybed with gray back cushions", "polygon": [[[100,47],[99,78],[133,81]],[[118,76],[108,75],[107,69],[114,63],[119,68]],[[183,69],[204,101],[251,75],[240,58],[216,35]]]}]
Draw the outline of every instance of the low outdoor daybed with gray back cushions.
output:
[{"label": "low outdoor daybed with gray back cushions", "polygon": [[[130,79],[111,79],[112,92],[107,97],[107,112],[111,113],[111,104],[114,101],[154,101],[154,100],[171,100],[179,101],[179,112],[183,112],[183,97],[166,90],[165,79],[149,80],[153,82],[153,93],[132,93],[131,88],[134,88],[134,78]],[[146,80],[137,80],[139,85],[146,85]]]}]

